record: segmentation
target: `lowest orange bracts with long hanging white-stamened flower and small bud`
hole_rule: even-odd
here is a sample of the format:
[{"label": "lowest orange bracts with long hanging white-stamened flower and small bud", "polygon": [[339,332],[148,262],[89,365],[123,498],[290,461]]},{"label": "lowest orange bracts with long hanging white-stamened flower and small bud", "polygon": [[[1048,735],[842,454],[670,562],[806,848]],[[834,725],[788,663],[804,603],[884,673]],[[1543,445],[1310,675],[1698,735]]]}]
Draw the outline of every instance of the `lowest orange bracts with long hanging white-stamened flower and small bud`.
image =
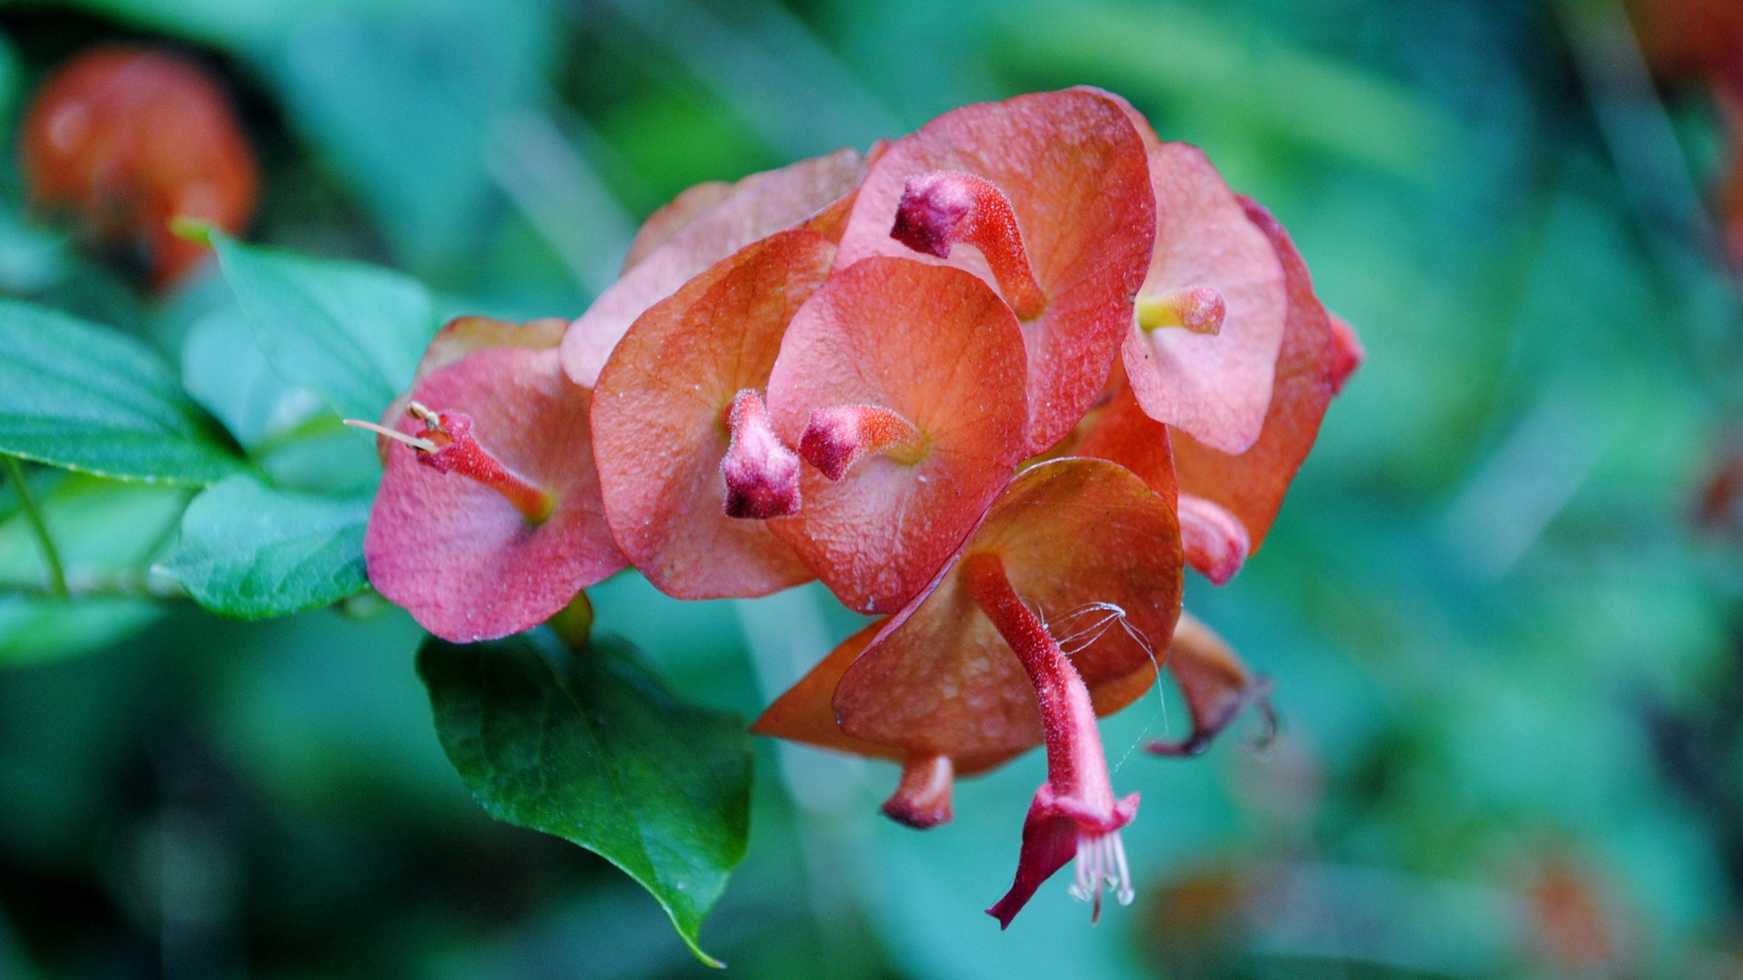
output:
[{"label": "lowest orange bracts with long hanging white-stamened flower and small bud", "polygon": [[1095,718],[1156,680],[1156,643],[1180,612],[1177,542],[1173,509],[1129,471],[1091,459],[1034,466],[931,589],[875,636],[837,649],[756,731],[899,759],[884,809],[915,827],[948,820],[955,774],[1046,743],[1048,783],[994,914],[1009,924],[1074,854],[1084,896],[1100,895],[1119,877],[1117,830],[1136,799],[1114,799]]}]

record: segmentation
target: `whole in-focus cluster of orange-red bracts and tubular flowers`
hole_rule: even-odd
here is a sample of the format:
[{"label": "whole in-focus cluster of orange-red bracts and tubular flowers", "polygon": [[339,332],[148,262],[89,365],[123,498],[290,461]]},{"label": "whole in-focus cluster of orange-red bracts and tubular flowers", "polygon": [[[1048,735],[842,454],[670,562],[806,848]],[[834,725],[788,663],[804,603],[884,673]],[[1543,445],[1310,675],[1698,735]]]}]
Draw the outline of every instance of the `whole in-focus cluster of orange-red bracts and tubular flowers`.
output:
[{"label": "whole in-focus cluster of orange-red bracts and tubular flowers", "polygon": [[[756,731],[901,764],[884,811],[1046,745],[1000,924],[1067,861],[1131,898],[1096,717],[1164,663],[1201,750],[1267,692],[1180,612],[1257,549],[1361,359],[1288,235],[1093,89],[945,113],[655,213],[572,324],[460,319],[380,427],[370,577],[502,636],[626,565],[880,616]],[[1161,657],[1166,656],[1166,661]]]}]

